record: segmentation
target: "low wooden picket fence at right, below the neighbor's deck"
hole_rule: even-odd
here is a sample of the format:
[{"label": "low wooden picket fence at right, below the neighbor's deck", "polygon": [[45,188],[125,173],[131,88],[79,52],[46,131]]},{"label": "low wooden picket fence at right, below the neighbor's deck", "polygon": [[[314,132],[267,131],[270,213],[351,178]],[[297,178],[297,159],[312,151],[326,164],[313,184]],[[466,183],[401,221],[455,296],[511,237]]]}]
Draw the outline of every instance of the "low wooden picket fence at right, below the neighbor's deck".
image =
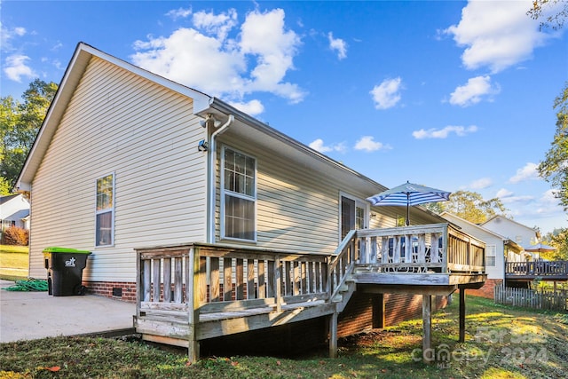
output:
[{"label": "low wooden picket fence at right, below the neighbor's deck", "polygon": [[494,300],[497,304],[568,311],[568,292],[566,290],[509,288],[501,284],[496,286],[494,291]]}]

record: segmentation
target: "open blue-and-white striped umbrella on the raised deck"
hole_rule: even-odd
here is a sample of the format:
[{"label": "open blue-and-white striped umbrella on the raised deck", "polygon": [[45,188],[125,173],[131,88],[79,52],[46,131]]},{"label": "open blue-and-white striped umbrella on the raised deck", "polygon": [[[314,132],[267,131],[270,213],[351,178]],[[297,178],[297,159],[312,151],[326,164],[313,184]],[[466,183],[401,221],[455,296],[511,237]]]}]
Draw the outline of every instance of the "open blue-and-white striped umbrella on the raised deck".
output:
[{"label": "open blue-and-white striped umbrella on the raised deck", "polygon": [[425,202],[437,202],[450,200],[450,193],[436,188],[415,185],[406,182],[404,185],[390,188],[390,190],[367,197],[372,205],[392,206],[406,205],[406,226],[410,225],[410,206]]}]

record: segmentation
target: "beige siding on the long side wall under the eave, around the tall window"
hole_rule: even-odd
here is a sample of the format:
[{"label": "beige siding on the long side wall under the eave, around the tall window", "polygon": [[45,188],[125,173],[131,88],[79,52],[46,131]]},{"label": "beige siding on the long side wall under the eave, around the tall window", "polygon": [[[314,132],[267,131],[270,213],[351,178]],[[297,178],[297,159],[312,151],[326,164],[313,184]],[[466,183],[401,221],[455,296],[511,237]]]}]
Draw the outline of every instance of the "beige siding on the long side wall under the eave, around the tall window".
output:
[{"label": "beige siding on the long side wall under the eave, around the tall window", "polygon": [[[256,246],[319,253],[335,251],[340,235],[340,193],[361,199],[365,198],[364,194],[353,193],[348,185],[290,162],[278,152],[220,138],[219,154],[223,144],[256,158]],[[218,205],[217,192],[217,241]],[[388,217],[382,220],[389,223]]]}]

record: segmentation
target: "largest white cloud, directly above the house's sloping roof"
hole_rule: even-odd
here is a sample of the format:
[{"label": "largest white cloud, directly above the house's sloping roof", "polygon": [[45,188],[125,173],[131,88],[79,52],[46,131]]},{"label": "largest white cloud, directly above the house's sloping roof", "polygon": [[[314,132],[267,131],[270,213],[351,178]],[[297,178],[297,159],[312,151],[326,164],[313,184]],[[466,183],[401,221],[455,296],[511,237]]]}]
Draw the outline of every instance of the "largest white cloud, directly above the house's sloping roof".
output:
[{"label": "largest white cloud, directly above the house's sloping roof", "polygon": [[[193,14],[194,28],[178,28],[170,36],[136,41],[133,63],[228,102],[264,109],[259,100],[243,102],[256,91],[270,92],[291,103],[304,99],[296,83],[284,81],[294,69],[301,40],[284,23],[284,11],[249,12],[238,27],[237,12]],[[230,35],[233,33],[234,37]],[[214,67],[212,69],[211,67]]]}]

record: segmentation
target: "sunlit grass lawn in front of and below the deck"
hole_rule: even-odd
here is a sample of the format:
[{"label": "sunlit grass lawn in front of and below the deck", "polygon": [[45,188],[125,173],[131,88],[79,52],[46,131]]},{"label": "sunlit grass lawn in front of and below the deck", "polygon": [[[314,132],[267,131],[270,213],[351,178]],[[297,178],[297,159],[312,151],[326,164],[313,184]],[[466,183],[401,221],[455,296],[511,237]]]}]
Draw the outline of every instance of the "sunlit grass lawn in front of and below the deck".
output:
[{"label": "sunlit grass lawn in front of and below the deck", "polygon": [[[125,339],[57,337],[0,344],[5,378],[556,378],[568,369],[568,317],[468,296],[466,342],[458,302],[432,319],[436,359],[422,363],[422,320],[340,341],[339,357],[209,357]],[[444,359],[446,357],[447,359]],[[4,375],[4,376],[3,376]]]}]

